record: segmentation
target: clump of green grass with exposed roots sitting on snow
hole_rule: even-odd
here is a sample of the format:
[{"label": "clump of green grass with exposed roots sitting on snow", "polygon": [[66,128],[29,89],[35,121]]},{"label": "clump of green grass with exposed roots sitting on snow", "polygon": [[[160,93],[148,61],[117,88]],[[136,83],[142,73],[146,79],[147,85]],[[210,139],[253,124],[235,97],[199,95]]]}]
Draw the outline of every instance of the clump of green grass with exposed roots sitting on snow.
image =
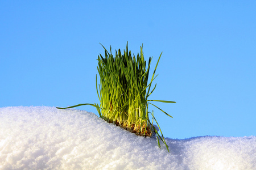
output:
[{"label": "clump of green grass with exposed roots sitting on snow", "polygon": [[[104,46],[103,48],[105,49]],[[105,57],[102,57],[100,54],[97,59],[97,69],[98,74],[100,75],[100,84],[97,84],[96,75],[96,89],[98,98],[100,99],[100,105],[86,103],[67,108],[78,107],[80,105],[92,105],[97,108],[97,111],[102,119],[121,126],[132,133],[141,135],[143,137],[151,137],[155,132],[159,147],[160,138],[168,150],[168,146],[164,141],[160,126],[154,117],[154,112],[151,113],[148,111],[149,104],[158,108],[156,105],[152,104],[151,101],[175,103],[174,101],[166,100],[148,100],[148,96],[150,96],[156,88],[155,84],[154,88],[151,90],[151,85],[152,81],[157,76],[155,76],[155,71],[161,56],[162,53],[158,58],[158,62],[156,63],[150,82],[148,82],[152,58],[150,57],[148,59],[148,63],[146,62],[143,56],[142,46],[141,53],[138,53],[137,57],[135,57],[134,54],[133,56],[131,55],[131,51],[128,50],[128,42],[126,45],[126,50],[123,51],[123,54],[119,49],[118,51],[115,50],[115,56],[112,54],[110,46],[110,53],[105,49]],[[162,109],[158,109],[167,116],[170,116]],[[149,113],[152,115],[152,121],[150,121],[150,117],[148,115]],[[162,137],[152,125],[154,120],[159,127]]]}]

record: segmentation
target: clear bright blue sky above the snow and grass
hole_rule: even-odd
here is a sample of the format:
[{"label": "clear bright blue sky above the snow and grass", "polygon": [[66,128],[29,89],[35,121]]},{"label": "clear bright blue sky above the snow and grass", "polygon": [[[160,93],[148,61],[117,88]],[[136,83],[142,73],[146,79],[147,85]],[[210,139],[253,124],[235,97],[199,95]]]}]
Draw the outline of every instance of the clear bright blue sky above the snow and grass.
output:
[{"label": "clear bright blue sky above the snow and grass", "polygon": [[[98,103],[97,56],[161,52],[165,137],[256,135],[255,1],[1,1],[0,107]],[[153,66],[154,67],[154,66]],[[151,70],[152,71],[152,70]],[[152,73],[152,72],[151,72]],[[79,107],[97,114],[93,107]]]}]

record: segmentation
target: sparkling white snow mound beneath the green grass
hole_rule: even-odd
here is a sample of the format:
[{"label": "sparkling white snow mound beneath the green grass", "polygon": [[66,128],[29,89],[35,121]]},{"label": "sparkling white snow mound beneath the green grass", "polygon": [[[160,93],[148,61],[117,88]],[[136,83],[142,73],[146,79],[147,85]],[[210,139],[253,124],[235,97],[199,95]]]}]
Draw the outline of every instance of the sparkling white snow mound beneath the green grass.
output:
[{"label": "sparkling white snow mound beneath the green grass", "polygon": [[256,137],[139,137],[94,113],[0,108],[0,169],[256,169]]}]

